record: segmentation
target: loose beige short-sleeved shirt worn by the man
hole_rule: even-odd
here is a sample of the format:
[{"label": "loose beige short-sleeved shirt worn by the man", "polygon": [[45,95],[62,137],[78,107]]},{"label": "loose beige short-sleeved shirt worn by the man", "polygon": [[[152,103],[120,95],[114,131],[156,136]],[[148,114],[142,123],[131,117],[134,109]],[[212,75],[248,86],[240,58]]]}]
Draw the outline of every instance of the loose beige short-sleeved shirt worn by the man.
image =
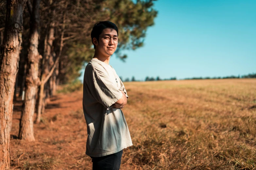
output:
[{"label": "loose beige short-sleeved shirt worn by the man", "polygon": [[100,157],[132,146],[124,113],[114,103],[127,92],[113,67],[92,59],[83,82],[83,111],[87,124],[86,154]]}]

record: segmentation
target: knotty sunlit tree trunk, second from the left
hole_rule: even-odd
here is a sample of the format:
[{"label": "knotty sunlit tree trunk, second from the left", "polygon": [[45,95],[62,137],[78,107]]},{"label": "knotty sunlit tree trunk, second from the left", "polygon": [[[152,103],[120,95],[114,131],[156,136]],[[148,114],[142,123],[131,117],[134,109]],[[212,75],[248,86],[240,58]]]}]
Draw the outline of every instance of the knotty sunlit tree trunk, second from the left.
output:
[{"label": "knotty sunlit tree trunk, second from the left", "polygon": [[39,7],[41,0],[34,0],[32,15],[30,16],[30,37],[29,37],[29,51],[27,55],[27,74],[26,74],[26,90],[23,101],[19,138],[34,141],[34,113],[36,104],[36,93],[40,79],[38,78],[40,54],[38,52],[38,38],[39,38]]}]

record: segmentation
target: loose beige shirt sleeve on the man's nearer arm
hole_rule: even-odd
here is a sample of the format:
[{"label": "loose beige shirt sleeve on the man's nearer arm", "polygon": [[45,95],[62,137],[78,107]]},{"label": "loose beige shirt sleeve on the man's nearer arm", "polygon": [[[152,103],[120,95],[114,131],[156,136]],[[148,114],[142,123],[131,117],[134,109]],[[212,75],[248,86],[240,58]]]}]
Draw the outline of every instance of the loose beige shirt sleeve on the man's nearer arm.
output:
[{"label": "loose beige shirt sleeve on the man's nearer arm", "polygon": [[110,80],[107,71],[103,67],[94,67],[94,72],[97,101],[105,108],[109,108],[123,96],[123,93]]}]

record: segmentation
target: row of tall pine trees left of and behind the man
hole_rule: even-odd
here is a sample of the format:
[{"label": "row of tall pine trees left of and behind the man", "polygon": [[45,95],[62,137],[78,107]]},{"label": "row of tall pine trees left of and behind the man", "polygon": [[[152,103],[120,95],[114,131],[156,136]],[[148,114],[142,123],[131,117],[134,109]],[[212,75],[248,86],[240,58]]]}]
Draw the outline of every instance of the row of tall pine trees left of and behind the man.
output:
[{"label": "row of tall pine trees left of and behind the man", "polygon": [[[109,20],[119,28],[121,51],[143,46],[157,11],[154,0],[3,0],[0,2],[0,169],[10,166],[13,98],[24,95],[19,138],[34,141],[56,86],[80,76],[94,49],[91,29]],[[19,90],[18,90],[19,89]]]}]

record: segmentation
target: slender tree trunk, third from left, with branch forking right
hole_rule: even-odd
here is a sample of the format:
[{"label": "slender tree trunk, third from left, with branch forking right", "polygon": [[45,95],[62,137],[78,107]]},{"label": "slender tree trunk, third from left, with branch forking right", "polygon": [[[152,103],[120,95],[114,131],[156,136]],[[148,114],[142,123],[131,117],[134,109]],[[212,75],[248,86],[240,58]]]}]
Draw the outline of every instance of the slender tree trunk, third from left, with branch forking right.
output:
[{"label": "slender tree trunk, third from left, with branch forking right", "polygon": [[[46,49],[44,52],[44,62],[43,62],[43,69],[42,69],[42,76],[41,76],[41,85],[40,85],[40,93],[38,95],[38,109],[37,109],[37,118],[36,118],[36,123],[39,123],[41,120],[41,113],[42,113],[42,107],[44,106],[44,80],[46,78],[46,75],[49,74],[49,66],[48,66],[48,60],[49,56],[51,55],[51,49],[52,49],[52,44],[54,40],[54,22],[50,23],[49,27],[49,33],[47,36],[47,44],[46,44]],[[47,79],[48,80],[48,79]],[[43,108],[44,109],[44,108]]]}]

